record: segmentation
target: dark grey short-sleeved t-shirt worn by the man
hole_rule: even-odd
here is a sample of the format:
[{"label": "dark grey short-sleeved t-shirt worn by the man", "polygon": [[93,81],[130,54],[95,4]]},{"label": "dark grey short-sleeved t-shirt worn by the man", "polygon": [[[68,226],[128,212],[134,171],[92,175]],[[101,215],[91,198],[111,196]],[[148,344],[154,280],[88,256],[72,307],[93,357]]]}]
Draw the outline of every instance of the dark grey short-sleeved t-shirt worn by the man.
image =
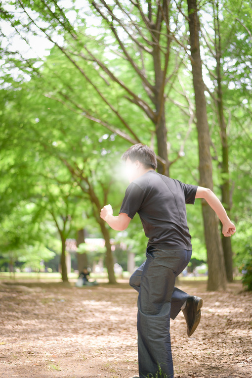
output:
[{"label": "dark grey short-sleeved t-shirt worn by the man", "polygon": [[191,250],[185,204],[194,204],[197,188],[148,171],[127,187],[120,213],[139,214],[148,246]]}]

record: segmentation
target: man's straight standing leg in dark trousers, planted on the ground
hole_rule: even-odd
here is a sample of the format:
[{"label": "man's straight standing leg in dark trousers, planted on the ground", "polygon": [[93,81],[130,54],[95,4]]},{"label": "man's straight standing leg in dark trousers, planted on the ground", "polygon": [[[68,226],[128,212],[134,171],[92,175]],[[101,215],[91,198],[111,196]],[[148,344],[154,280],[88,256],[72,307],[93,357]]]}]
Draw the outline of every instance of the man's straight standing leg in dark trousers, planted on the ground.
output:
[{"label": "man's straight standing leg in dark trousers, planted on the ground", "polygon": [[147,377],[148,374],[155,376],[159,369],[158,364],[169,378],[173,378],[169,315],[174,283],[173,271],[148,256],[142,270],[138,296],[137,331],[140,378]]}]

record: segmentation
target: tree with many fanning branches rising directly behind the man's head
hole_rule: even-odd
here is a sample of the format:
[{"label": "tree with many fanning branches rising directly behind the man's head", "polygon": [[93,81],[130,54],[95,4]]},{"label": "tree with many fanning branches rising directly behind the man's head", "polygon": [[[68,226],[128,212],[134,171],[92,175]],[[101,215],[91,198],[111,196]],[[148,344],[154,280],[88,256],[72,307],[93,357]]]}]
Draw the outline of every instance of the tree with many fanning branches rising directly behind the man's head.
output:
[{"label": "tree with many fanning branches rising directly behind the man's head", "polygon": [[[169,137],[171,152],[169,148],[166,151],[166,134],[173,132],[169,127],[172,124],[170,117],[167,125],[166,117],[178,110],[178,107],[171,110],[171,103],[178,103],[174,98],[178,85],[184,90],[184,83],[180,86],[176,76],[177,72],[183,74],[183,58],[187,53],[187,28],[184,20],[181,21],[181,14],[184,15],[181,4],[175,7],[171,1],[157,4],[93,1],[85,9],[71,9],[76,11],[72,23],[67,9],[60,8],[57,1],[18,1],[15,6],[22,12],[23,18],[14,22],[14,12],[8,10],[3,13],[5,20],[28,42],[29,31],[37,35],[43,33],[61,52],[57,53],[59,60],[63,61],[64,55],[71,62],[77,72],[72,78],[79,75],[79,82],[82,81],[83,88],[87,89],[86,97],[91,98],[89,102],[84,101],[76,92],[76,81],[70,85],[62,79],[49,59],[40,69],[32,59],[21,57],[21,63],[17,62],[15,54],[10,55],[8,63],[42,80],[46,80],[46,74],[50,75],[50,79],[60,78],[61,83],[50,80],[48,88],[41,86],[42,92],[89,120],[92,127],[94,124],[98,128],[102,126],[109,130],[109,135],[118,135],[129,143],[142,141],[150,144],[155,136],[153,147],[161,155],[159,171],[168,174],[171,163],[177,162],[183,154],[184,139],[189,135],[194,118],[190,95],[187,95],[190,112],[185,112],[183,120],[188,122],[189,119],[188,134],[185,132],[187,135],[175,152],[173,145],[177,145],[178,141],[175,143]],[[95,20],[97,16],[102,19],[97,27],[97,36],[88,32],[89,16]],[[55,51],[52,51],[54,56]],[[55,60],[51,62],[55,64]],[[70,70],[67,75],[70,75]],[[186,95],[186,90],[183,92]],[[175,155],[174,158],[171,158],[172,155]]]}]

